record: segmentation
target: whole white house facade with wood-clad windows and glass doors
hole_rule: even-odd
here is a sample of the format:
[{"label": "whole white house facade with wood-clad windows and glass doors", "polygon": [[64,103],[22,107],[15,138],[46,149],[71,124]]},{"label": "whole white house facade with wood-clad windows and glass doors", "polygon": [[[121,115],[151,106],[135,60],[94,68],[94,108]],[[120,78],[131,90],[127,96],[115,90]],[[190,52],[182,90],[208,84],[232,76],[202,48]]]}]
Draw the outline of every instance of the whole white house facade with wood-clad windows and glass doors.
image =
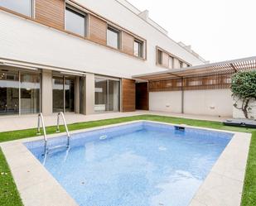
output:
[{"label": "whole white house facade with wood-clad windows and glass doors", "polygon": [[0,45],[1,116],[134,111],[133,75],[205,63],[123,0],[0,1]]}]

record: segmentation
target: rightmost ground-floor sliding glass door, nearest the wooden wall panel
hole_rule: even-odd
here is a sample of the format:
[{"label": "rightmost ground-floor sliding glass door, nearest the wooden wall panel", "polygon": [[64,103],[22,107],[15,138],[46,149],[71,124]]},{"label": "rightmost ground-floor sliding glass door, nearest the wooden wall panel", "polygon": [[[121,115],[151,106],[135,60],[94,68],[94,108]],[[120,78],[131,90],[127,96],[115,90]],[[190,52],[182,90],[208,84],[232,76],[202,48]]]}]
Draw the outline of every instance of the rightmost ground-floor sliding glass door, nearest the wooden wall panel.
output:
[{"label": "rightmost ground-floor sliding glass door, nearest the wooden wall panel", "polygon": [[118,112],[120,83],[118,80],[95,78],[94,111]]}]

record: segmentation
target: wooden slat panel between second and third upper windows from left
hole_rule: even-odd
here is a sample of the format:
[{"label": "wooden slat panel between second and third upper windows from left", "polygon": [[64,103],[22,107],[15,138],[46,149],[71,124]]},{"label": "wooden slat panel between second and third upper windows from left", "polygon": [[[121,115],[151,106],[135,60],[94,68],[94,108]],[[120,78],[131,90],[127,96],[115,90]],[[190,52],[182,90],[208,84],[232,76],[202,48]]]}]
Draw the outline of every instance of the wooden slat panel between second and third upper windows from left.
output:
[{"label": "wooden slat panel between second and third upper windows from left", "polygon": [[107,22],[89,15],[89,39],[107,45]]}]

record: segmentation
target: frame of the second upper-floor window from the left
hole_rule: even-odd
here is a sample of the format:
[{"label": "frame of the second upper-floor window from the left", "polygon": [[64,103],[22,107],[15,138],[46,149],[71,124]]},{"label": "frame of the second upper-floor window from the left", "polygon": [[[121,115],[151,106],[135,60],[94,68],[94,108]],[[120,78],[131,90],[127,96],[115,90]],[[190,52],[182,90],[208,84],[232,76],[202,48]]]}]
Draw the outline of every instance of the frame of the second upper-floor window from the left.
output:
[{"label": "frame of the second upper-floor window from the left", "polygon": [[65,25],[64,29],[65,29],[65,31],[71,32],[75,35],[79,35],[79,36],[83,36],[83,37],[87,38],[88,37],[88,30],[89,30],[89,28],[88,28],[88,26],[89,26],[89,22],[88,22],[89,21],[89,15],[88,15],[88,13],[84,12],[83,9],[73,7],[72,5],[70,5],[67,2],[65,2],[65,12],[66,12],[66,10],[68,10],[69,12],[72,12],[72,13],[80,16],[80,17],[84,17],[84,35],[80,35],[78,33],[75,33],[74,31],[69,31],[69,30],[66,29],[66,13],[65,13],[65,17],[64,17],[64,25]]}]

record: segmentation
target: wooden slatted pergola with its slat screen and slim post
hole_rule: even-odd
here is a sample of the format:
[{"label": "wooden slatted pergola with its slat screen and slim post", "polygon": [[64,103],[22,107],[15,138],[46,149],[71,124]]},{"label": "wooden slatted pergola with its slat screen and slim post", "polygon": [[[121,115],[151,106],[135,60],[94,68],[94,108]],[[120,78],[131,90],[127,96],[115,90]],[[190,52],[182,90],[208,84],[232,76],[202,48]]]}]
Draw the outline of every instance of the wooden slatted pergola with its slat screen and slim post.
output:
[{"label": "wooden slatted pergola with its slat screen and slim post", "polygon": [[233,74],[250,70],[256,70],[256,56],[184,69],[167,69],[157,73],[134,75],[133,79],[146,80],[149,92],[181,91],[181,113],[183,113],[184,91],[229,89]]}]

